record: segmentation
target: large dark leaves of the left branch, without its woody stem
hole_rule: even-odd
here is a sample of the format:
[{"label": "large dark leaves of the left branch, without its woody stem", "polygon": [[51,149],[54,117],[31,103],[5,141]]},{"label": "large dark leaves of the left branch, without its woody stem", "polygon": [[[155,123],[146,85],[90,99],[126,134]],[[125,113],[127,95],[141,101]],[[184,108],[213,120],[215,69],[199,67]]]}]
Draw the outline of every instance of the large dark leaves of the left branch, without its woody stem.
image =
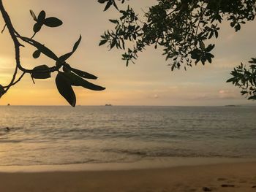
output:
[{"label": "large dark leaves of the left branch, without its woody stem", "polygon": [[[34,12],[30,12],[32,17],[34,18]],[[45,11],[41,11],[38,15],[38,18],[34,18],[34,20],[37,21],[34,26],[45,25],[50,27],[57,27],[61,26],[62,24],[62,21],[58,18],[45,18]],[[37,31],[34,32],[37,33]],[[34,47],[37,48],[37,50],[35,50],[33,53],[34,58],[39,58],[40,54],[43,53],[48,58],[51,58],[56,62],[56,67],[62,67],[62,72],[58,70],[58,74],[55,79],[56,87],[61,96],[63,96],[64,99],[66,99],[72,107],[75,107],[76,104],[76,96],[72,86],[80,86],[94,91],[102,91],[105,89],[99,85],[94,85],[93,83],[85,80],[96,80],[96,76],[94,76],[93,74],[89,74],[88,72],[83,72],[79,69],[72,68],[66,62],[67,59],[78,49],[81,39],[82,37],[80,36],[78,41],[75,42],[75,44],[73,45],[72,50],[69,53],[61,55],[60,57],[58,57],[55,53],[53,53],[53,51],[48,49],[48,47],[45,47],[45,45],[42,45],[36,41],[32,41],[31,39],[27,39],[28,41],[32,41]],[[48,69],[49,67],[46,65],[36,66],[31,73],[31,77],[34,79],[50,78],[50,72],[48,72]]]}]

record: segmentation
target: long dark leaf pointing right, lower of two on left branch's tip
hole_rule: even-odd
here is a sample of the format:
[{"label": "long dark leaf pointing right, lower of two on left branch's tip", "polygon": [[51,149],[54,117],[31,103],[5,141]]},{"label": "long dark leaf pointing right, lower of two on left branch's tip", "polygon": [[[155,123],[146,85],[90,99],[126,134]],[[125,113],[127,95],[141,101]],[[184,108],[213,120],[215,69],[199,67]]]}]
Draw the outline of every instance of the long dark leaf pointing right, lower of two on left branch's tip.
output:
[{"label": "long dark leaf pointing right, lower of two on left branch's tip", "polygon": [[76,75],[72,72],[64,73],[64,74],[66,75],[66,77],[69,78],[71,85],[73,85],[73,86],[81,86],[83,88],[91,89],[94,91],[105,90],[105,88],[103,88],[102,86],[94,85],[93,83],[84,80],[83,78],[79,77],[78,75]]}]

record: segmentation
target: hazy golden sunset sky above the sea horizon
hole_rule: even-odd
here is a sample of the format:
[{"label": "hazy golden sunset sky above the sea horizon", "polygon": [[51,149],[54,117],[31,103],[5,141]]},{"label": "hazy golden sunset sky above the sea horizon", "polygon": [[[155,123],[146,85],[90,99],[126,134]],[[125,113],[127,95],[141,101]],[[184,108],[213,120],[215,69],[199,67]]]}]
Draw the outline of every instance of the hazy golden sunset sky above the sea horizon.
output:
[{"label": "hazy golden sunset sky above the sea horizon", "polygon": [[[50,47],[57,55],[68,53],[81,34],[83,39],[76,53],[68,63],[78,69],[95,74],[98,80],[91,80],[106,87],[105,91],[89,91],[74,88],[78,105],[174,105],[205,106],[226,104],[254,104],[241,96],[240,89],[226,80],[230,71],[250,58],[255,57],[256,25],[246,23],[241,31],[235,33],[229,23],[222,23],[219,39],[215,40],[214,61],[188,69],[171,72],[162,50],[148,47],[140,53],[136,64],[125,66],[121,60],[122,51],[108,51],[99,47],[100,35],[113,28],[108,19],[118,18],[116,9],[103,12],[104,6],[96,0],[4,0],[4,7],[10,14],[16,30],[26,37],[33,34],[34,21],[29,9],[36,15],[45,10],[47,17],[60,18],[64,24],[59,28],[46,28],[35,39]],[[129,4],[137,12],[148,9],[157,1],[135,1]],[[124,5],[125,7],[127,4]],[[2,18],[0,27],[4,27]],[[0,34],[0,84],[7,85],[15,69],[15,54],[12,39],[7,30]],[[32,58],[33,47],[21,48],[22,65],[28,69],[54,62],[45,56]],[[48,80],[35,80],[29,74],[13,86],[0,99],[0,105],[68,105],[56,89],[54,77]]]}]

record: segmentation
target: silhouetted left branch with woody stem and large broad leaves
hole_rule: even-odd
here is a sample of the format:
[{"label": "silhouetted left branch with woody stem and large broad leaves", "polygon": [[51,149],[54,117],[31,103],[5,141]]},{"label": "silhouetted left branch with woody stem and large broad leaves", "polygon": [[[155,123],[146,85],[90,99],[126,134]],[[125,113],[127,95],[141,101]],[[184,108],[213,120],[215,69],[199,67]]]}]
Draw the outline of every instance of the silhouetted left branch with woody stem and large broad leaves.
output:
[{"label": "silhouetted left branch with woody stem and large broad leaves", "polygon": [[[56,75],[56,87],[61,96],[63,96],[64,99],[66,99],[72,107],[75,107],[76,104],[76,97],[72,86],[80,86],[94,91],[102,91],[105,89],[99,85],[94,85],[93,83],[85,80],[96,80],[96,76],[87,72],[80,71],[79,69],[74,69],[67,63],[67,59],[73,53],[75,53],[75,50],[77,50],[82,39],[81,36],[79,37],[78,41],[75,42],[72,51],[61,56],[57,56],[55,53],[53,53],[53,50],[50,50],[50,48],[46,47],[44,44],[34,40],[35,35],[41,30],[42,26],[55,28],[62,25],[61,20],[54,17],[47,18],[45,11],[39,12],[39,15],[36,16],[34,12],[30,10],[31,16],[35,23],[33,28],[34,34],[31,38],[29,38],[23,37],[20,33],[18,33],[18,31],[15,30],[14,26],[12,26],[12,21],[4,9],[2,0],[0,0],[0,11],[2,17],[4,18],[4,29],[8,29],[14,43],[16,61],[15,72],[13,73],[13,77],[9,85],[0,85],[0,98],[4,95],[4,93],[7,93],[7,91],[13,85],[19,82],[25,74],[30,74],[34,82],[34,79],[47,79],[51,77],[51,73],[57,72],[58,74]],[[4,29],[2,33],[4,32]],[[34,58],[39,58],[42,53],[42,55],[45,55],[53,60],[54,66],[49,67],[47,65],[41,65],[34,67],[34,69],[25,69],[20,63],[20,47],[25,47],[21,44],[22,42],[25,42],[26,44],[31,45],[36,49],[33,53]],[[17,78],[18,70],[20,70],[22,74]]]}]

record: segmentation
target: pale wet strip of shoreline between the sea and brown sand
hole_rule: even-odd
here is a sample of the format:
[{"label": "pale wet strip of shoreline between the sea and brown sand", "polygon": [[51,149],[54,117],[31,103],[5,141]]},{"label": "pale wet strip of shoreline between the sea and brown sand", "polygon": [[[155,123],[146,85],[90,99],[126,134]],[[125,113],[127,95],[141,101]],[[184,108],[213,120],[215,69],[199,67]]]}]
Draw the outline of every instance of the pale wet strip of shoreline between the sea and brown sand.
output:
[{"label": "pale wet strip of shoreline between the sea and brown sand", "polygon": [[143,169],[170,169],[181,166],[208,166],[218,164],[253,163],[256,158],[184,158],[162,157],[146,158],[134,162],[0,166],[0,173],[37,173],[37,172],[104,172]]}]

